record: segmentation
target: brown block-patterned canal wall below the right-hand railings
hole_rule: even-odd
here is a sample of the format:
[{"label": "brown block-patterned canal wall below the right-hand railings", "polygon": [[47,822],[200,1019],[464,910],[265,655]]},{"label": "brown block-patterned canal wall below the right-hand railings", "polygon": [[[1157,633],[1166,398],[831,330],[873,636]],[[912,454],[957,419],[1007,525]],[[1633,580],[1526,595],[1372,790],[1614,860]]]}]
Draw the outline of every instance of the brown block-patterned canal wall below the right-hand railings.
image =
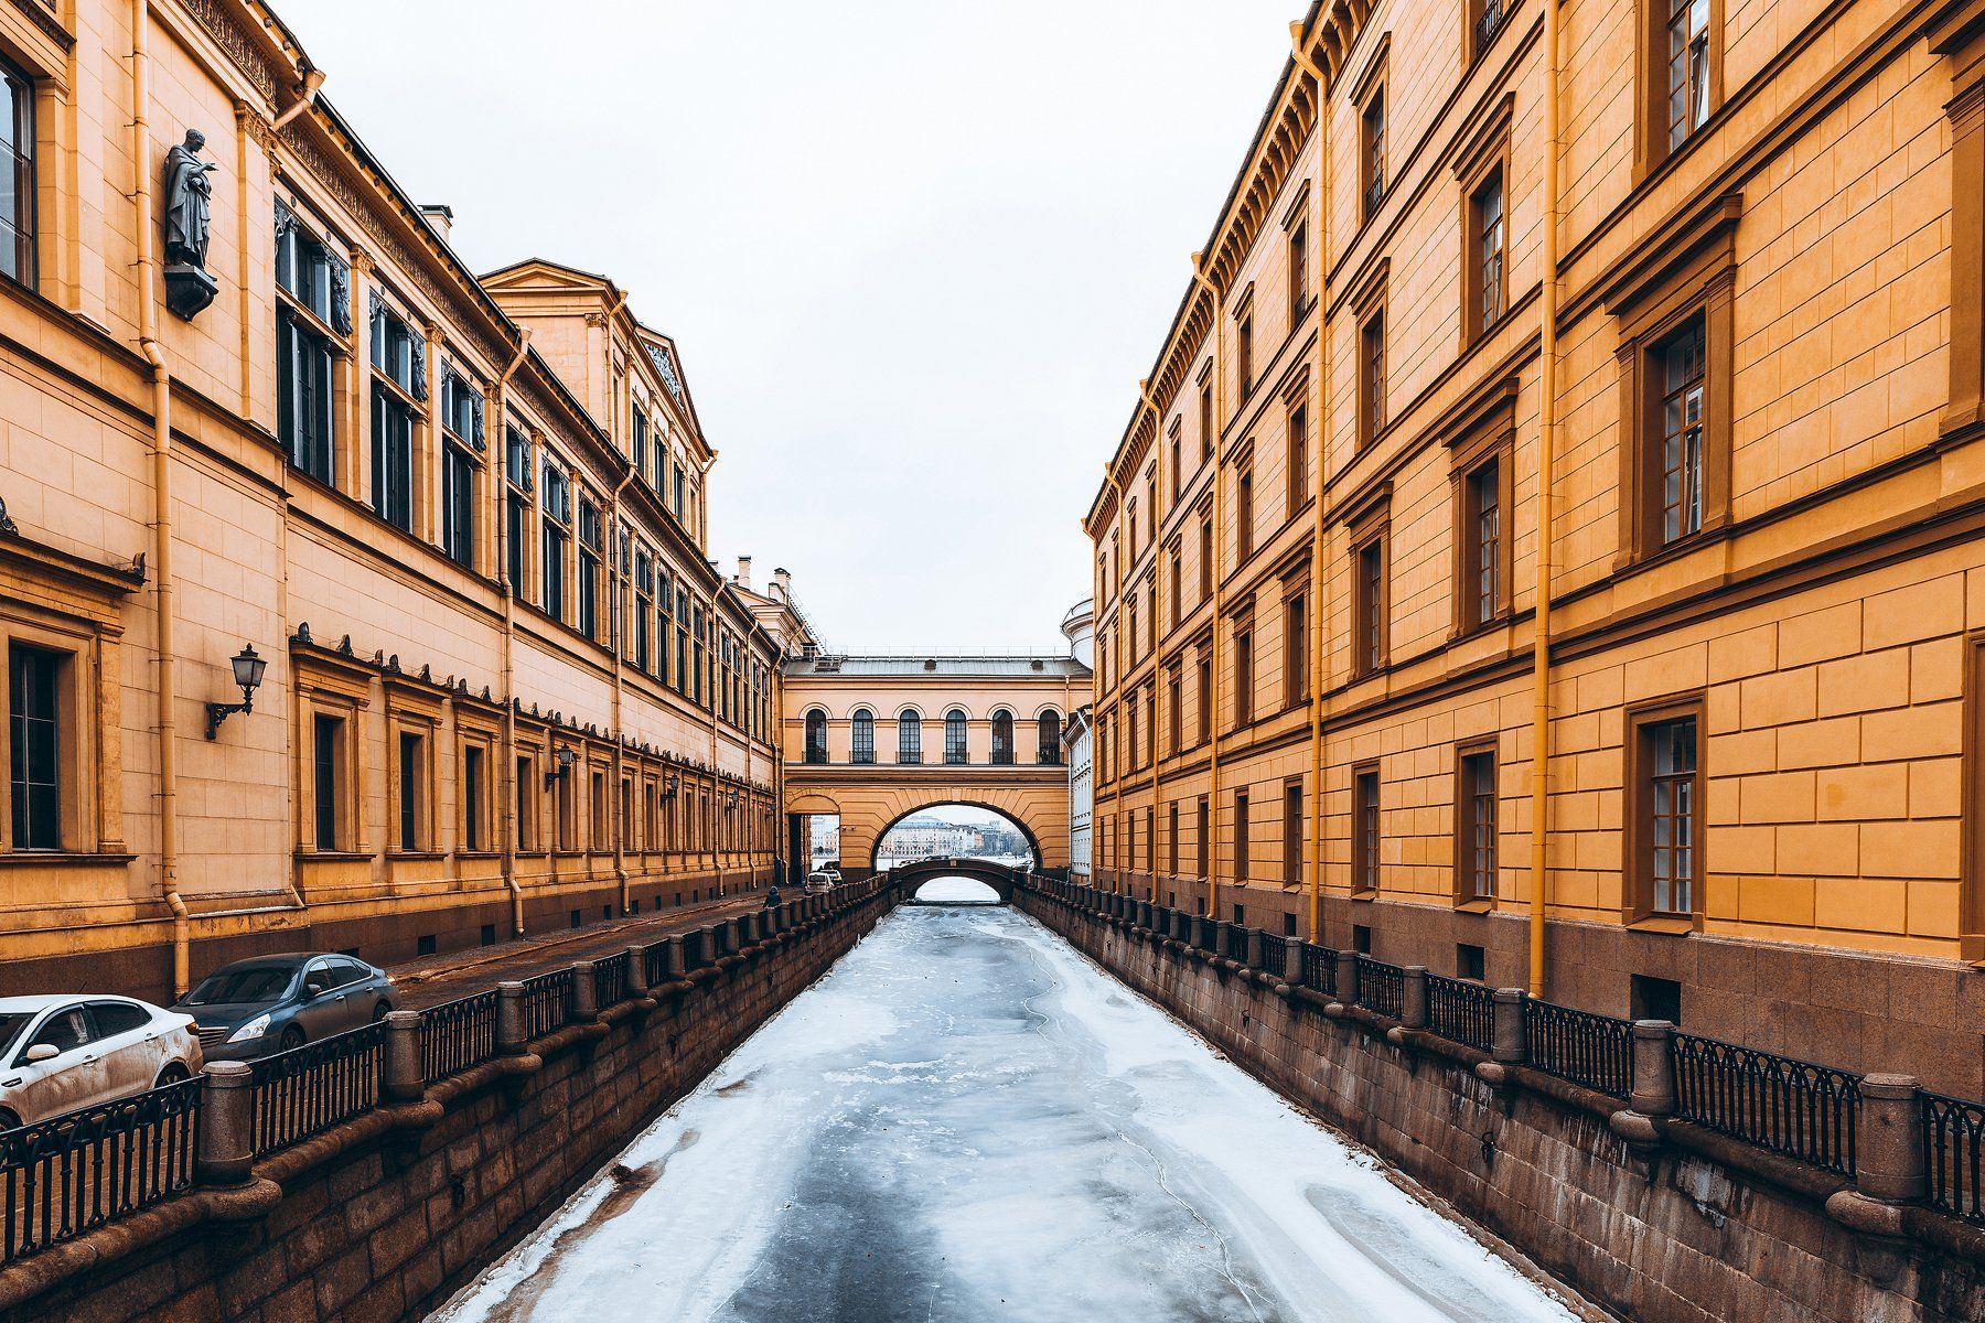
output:
[{"label": "brown block-patterned canal wall below the right-hand railings", "polygon": [[1814,1190],[1693,1150],[1665,1148],[1650,1178],[1592,1111],[1530,1089],[1499,1093],[1461,1059],[1393,1045],[1127,926],[1034,895],[1022,908],[1272,1089],[1636,1323],[1985,1317],[1977,1258],[1862,1240],[1826,1216]]}]

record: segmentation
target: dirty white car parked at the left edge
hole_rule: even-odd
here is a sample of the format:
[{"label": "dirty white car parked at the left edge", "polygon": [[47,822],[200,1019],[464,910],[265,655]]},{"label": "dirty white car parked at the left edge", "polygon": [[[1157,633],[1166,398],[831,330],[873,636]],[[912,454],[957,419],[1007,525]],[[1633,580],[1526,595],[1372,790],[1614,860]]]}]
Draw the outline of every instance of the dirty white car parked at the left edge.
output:
[{"label": "dirty white car parked at the left edge", "polygon": [[0,1131],[200,1069],[193,1016],[109,996],[0,998]]}]

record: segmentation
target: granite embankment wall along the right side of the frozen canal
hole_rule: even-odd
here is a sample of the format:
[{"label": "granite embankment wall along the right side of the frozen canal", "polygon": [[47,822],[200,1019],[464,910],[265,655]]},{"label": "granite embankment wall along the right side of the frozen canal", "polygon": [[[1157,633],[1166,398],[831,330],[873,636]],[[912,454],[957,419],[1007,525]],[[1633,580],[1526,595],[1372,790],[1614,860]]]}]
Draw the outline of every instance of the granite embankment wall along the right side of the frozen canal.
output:
[{"label": "granite embankment wall along the right side of the frozen canal", "polygon": [[[1251,968],[1258,940],[1229,946],[1227,924],[1203,942],[1149,906],[1052,883],[1024,889],[1018,904],[1286,1099],[1634,1323],[1985,1319],[1985,1226],[1868,1200],[1850,1178],[1650,1119]],[[1862,1143],[1864,1174],[1874,1141]]]}]

